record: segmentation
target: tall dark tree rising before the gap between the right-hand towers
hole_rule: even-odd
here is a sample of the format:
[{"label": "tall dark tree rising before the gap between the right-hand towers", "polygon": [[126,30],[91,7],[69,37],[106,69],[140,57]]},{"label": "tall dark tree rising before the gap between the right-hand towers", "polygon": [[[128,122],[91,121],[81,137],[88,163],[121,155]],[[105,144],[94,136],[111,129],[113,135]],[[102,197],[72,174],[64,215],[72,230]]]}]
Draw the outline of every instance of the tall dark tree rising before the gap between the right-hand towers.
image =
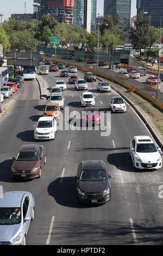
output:
[{"label": "tall dark tree rising before the gap between the right-hand towers", "polygon": [[148,46],[148,32],[149,26],[151,25],[151,16],[144,18],[142,10],[140,14],[137,15],[137,20],[134,23],[136,29],[130,29],[129,39],[133,41],[133,48],[140,52],[141,57],[142,49]]}]

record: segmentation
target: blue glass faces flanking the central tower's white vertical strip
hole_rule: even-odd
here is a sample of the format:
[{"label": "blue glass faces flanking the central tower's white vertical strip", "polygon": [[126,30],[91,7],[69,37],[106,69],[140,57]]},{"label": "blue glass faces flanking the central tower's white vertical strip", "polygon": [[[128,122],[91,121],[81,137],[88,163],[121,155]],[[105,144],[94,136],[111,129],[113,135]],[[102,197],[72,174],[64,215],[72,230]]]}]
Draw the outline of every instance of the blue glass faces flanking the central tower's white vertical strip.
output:
[{"label": "blue glass faces flanking the central tower's white vertical strip", "polygon": [[[84,2],[85,0],[74,0],[73,25],[84,27]],[[96,23],[97,0],[91,0],[91,22]]]}]

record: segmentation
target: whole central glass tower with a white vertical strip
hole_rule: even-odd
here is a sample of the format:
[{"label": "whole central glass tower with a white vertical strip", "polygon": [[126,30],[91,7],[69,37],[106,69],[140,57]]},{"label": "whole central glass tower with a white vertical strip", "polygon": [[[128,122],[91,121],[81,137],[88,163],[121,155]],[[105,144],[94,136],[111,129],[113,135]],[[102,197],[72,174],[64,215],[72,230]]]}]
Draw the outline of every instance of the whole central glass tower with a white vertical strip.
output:
[{"label": "whole central glass tower with a white vertical strip", "polygon": [[73,25],[90,32],[90,23],[96,23],[97,0],[74,0]]}]

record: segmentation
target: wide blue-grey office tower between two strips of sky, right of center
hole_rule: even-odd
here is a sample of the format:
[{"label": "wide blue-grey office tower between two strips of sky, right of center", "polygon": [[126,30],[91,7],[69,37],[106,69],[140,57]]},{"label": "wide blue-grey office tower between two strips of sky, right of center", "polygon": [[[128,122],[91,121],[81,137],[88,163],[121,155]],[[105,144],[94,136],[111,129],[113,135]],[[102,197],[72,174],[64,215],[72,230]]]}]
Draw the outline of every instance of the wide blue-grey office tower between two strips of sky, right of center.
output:
[{"label": "wide blue-grey office tower between two strips of sky, right of center", "polygon": [[111,15],[113,18],[119,14],[118,27],[130,27],[131,0],[104,0],[104,17]]}]

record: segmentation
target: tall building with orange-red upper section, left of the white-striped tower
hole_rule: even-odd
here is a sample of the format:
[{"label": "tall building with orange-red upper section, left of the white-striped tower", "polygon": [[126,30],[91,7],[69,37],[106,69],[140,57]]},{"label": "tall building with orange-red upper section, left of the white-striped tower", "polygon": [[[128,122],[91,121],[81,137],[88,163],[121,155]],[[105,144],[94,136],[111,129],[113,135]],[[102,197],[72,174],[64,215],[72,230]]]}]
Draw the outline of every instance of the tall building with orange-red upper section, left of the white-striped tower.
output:
[{"label": "tall building with orange-red upper section, left of the white-striped tower", "polygon": [[[38,19],[41,20],[43,15],[54,14],[59,16],[59,21],[64,21],[69,25],[73,24],[74,0],[34,0],[34,3],[40,4],[38,8]],[[34,7],[36,13],[36,7]]]}]

